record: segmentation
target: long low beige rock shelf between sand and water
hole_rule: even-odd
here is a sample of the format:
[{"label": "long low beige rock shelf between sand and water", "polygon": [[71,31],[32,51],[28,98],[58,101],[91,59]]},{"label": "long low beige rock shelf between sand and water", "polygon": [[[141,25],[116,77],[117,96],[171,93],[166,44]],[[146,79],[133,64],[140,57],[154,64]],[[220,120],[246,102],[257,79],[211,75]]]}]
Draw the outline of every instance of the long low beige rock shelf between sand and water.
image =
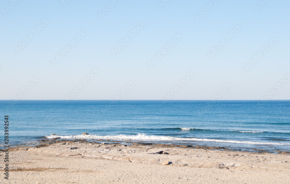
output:
[{"label": "long low beige rock shelf between sand and water", "polygon": [[[165,152],[166,151],[166,152]],[[157,147],[154,145],[127,145],[96,142],[55,142],[47,146],[28,149],[28,153],[42,156],[75,157],[90,159],[120,160],[135,163],[162,164],[170,166],[186,166],[220,169],[261,169],[275,168],[289,171],[289,161],[283,165],[273,161],[272,155],[267,159],[264,154],[236,154],[229,151],[212,151],[193,148]],[[232,154],[234,153],[234,154]],[[270,157],[271,156],[271,157]],[[278,155],[283,157],[283,155]],[[261,161],[262,160],[262,161]]]}]

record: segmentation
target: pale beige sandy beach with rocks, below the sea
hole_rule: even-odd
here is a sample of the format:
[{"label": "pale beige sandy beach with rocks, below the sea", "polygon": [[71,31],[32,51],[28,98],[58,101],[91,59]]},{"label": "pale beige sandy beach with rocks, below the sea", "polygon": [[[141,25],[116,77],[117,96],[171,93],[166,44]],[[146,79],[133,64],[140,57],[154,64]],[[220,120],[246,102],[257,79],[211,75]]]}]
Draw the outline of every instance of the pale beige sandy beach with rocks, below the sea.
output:
[{"label": "pale beige sandy beach with rocks, below the sea", "polygon": [[176,145],[43,142],[10,149],[9,167],[1,183],[290,183],[289,153]]}]

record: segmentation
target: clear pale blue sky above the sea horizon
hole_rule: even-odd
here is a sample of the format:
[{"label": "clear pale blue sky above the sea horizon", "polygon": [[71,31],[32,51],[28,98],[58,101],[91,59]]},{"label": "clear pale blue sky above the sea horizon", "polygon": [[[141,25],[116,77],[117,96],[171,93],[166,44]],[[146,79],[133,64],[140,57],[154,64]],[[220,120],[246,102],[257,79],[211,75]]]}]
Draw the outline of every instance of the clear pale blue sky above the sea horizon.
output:
[{"label": "clear pale blue sky above the sea horizon", "polygon": [[290,1],[2,0],[1,100],[289,100]]}]

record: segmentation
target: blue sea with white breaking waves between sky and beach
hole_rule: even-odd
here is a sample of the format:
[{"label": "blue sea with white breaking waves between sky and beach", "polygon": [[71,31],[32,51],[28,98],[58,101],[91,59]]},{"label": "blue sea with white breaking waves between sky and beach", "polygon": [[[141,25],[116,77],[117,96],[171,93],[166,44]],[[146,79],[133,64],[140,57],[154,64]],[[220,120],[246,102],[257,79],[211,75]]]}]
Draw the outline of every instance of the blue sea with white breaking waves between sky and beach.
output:
[{"label": "blue sea with white breaking waves between sky and beach", "polygon": [[289,100],[3,100],[0,112],[10,145],[61,137],[290,151]]}]

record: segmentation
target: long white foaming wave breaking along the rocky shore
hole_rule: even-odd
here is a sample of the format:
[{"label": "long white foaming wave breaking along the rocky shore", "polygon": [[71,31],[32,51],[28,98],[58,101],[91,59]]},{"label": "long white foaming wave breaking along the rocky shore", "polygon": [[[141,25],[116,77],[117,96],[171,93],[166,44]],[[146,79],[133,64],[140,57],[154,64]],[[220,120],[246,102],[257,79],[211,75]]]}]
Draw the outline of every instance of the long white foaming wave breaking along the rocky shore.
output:
[{"label": "long white foaming wave breaking along the rocky shore", "polygon": [[97,136],[97,135],[71,135],[71,136],[60,136],[60,135],[49,135],[46,138],[62,138],[62,139],[108,139],[108,140],[163,140],[163,141],[206,141],[206,142],[229,142],[229,143],[240,143],[240,144],[258,144],[258,145],[290,145],[288,143],[277,143],[277,142],[253,142],[245,140],[220,140],[220,139],[207,139],[207,138],[180,138],[172,136],[147,136],[146,134],[138,134],[135,136]]}]

